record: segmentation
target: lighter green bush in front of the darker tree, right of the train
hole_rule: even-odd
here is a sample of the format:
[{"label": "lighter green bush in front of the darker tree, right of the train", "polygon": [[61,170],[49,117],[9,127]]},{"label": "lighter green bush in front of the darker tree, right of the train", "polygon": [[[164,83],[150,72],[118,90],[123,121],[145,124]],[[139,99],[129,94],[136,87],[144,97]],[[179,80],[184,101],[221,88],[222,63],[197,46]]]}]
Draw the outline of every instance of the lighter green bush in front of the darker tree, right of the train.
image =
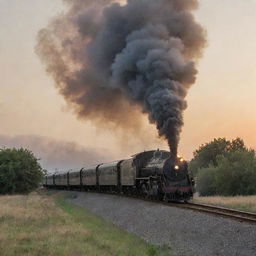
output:
[{"label": "lighter green bush in front of the darker tree, right of the train", "polygon": [[218,156],[216,166],[198,171],[197,189],[202,196],[256,194],[256,157],[253,150]]}]

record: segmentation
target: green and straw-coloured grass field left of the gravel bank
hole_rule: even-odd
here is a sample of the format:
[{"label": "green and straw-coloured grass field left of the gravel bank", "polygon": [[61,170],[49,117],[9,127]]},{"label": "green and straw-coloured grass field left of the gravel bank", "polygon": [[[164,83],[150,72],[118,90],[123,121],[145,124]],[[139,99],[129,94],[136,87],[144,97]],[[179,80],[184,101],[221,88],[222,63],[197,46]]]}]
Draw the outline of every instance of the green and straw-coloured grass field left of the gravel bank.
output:
[{"label": "green and straw-coloured grass field left of the gravel bank", "polygon": [[169,255],[56,195],[0,196],[1,256]]}]

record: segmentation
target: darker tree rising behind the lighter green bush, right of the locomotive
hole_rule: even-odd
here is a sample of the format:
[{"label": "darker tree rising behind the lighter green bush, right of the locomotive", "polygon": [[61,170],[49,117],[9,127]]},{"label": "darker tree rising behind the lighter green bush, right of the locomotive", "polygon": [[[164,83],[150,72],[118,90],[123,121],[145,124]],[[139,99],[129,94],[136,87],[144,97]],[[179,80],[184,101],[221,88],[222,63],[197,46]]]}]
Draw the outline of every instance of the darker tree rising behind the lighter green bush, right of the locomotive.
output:
[{"label": "darker tree rising behind the lighter green bush, right of the locomotive", "polygon": [[201,168],[207,168],[209,166],[216,167],[219,156],[226,156],[237,150],[247,150],[244,141],[240,138],[232,141],[225,138],[214,139],[209,143],[201,145],[193,153],[194,157],[189,163],[189,169],[194,175],[197,175],[198,170]]}]

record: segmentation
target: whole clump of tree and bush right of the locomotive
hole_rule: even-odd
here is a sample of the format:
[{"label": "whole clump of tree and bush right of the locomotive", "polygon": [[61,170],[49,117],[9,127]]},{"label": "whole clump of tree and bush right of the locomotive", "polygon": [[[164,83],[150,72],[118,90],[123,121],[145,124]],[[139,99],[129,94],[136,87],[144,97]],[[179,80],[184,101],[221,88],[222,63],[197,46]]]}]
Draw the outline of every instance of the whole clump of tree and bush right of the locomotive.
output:
[{"label": "whole clump of tree and bush right of the locomotive", "polygon": [[255,150],[241,138],[214,139],[194,152],[189,169],[201,196],[256,194]]}]

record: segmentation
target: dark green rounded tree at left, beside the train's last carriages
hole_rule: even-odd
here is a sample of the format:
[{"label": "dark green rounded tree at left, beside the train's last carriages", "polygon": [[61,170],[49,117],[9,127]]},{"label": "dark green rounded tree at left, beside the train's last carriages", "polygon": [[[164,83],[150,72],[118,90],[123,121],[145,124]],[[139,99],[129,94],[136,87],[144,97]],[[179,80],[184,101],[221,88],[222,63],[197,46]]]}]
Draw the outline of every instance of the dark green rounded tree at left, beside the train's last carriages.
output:
[{"label": "dark green rounded tree at left, beside the train's last carriages", "polygon": [[0,149],[0,193],[29,193],[44,176],[38,159],[27,149]]}]

